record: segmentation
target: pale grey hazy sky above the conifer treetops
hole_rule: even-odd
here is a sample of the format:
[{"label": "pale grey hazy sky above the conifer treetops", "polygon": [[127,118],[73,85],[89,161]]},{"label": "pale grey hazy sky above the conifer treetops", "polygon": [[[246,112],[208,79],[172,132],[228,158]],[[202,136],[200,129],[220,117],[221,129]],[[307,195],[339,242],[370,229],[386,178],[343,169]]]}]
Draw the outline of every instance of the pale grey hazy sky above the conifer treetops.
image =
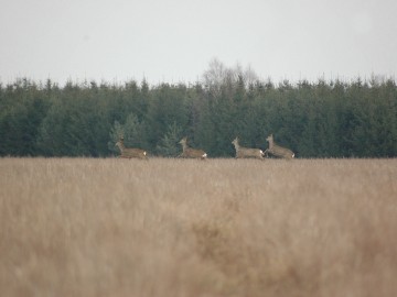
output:
[{"label": "pale grey hazy sky above the conifer treetops", "polygon": [[0,80],[396,78],[396,0],[0,0]]}]

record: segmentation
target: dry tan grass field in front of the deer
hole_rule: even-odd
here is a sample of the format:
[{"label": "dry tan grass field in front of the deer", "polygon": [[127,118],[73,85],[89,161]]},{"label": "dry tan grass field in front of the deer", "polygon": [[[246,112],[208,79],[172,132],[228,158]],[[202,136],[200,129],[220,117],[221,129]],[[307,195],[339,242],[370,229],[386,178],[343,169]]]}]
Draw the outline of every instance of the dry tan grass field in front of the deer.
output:
[{"label": "dry tan grass field in front of the deer", "polygon": [[397,296],[397,160],[0,158],[1,296]]}]

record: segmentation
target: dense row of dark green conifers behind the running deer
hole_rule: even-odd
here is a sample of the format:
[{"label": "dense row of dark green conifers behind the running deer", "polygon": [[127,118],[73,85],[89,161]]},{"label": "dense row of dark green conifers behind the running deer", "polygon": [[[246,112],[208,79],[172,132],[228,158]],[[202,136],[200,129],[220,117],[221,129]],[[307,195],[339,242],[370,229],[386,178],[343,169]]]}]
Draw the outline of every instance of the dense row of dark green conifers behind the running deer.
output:
[{"label": "dense row of dark green conifers behind the running deer", "polygon": [[1,156],[106,157],[122,135],[151,155],[179,155],[187,136],[230,157],[236,136],[266,150],[270,133],[297,157],[396,157],[396,81],[273,84],[215,61],[196,84],[0,82]]}]

